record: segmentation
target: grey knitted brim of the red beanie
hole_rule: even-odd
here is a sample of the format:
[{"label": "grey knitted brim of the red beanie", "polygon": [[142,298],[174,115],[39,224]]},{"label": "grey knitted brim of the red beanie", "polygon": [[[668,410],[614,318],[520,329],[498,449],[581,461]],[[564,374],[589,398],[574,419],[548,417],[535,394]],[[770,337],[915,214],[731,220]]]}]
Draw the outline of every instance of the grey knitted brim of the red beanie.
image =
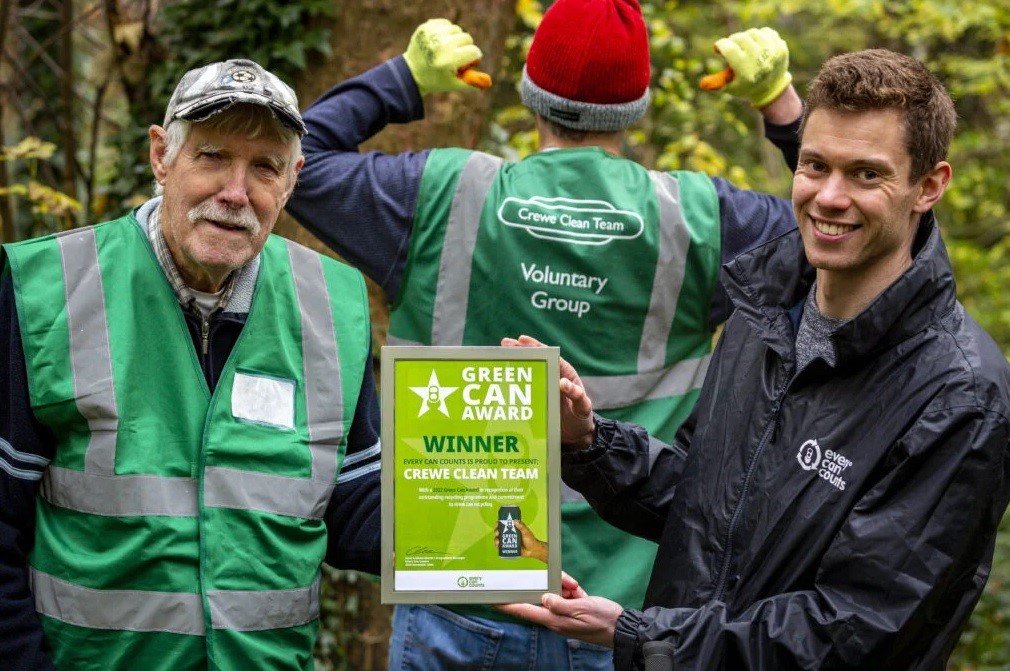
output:
[{"label": "grey knitted brim of the red beanie", "polygon": [[566,128],[593,132],[623,130],[640,119],[648,108],[649,91],[637,100],[616,104],[581,102],[563,98],[536,85],[522,69],[519,83],[522,103],[546,119]]}]

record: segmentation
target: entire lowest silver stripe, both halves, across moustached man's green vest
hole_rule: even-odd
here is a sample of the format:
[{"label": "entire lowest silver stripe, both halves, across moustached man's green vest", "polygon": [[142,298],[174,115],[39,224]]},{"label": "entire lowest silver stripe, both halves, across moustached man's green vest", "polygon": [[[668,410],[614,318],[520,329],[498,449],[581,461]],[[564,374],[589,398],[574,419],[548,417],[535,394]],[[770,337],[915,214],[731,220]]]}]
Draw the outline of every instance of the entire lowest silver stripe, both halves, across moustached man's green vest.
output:
[{"label": "entire lowest silver stripe, both halves, across moustached man's green vest", "polygon": [[[92,589],[31,570],[35,609],[89,629],[205,636],[199,594]],[[258,632],[311,622],[319,616],[319,579],[308,587],[263,591],[210,590],[211,626]]]}]

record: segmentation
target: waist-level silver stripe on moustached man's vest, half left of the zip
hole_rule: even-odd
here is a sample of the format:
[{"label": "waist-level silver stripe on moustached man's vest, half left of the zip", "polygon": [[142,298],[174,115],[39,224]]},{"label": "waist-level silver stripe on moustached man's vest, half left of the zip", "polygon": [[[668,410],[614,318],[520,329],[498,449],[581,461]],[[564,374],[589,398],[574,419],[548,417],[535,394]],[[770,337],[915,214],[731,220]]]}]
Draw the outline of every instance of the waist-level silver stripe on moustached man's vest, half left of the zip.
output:
[{"label": "waist-level silver stripe on moustached man's vest, half left of the zip", "polygon": [[50,466],[42,476],[41,489],[54,505],[97,515],[197,514],[197,482],[193,478],[95,475]]}]

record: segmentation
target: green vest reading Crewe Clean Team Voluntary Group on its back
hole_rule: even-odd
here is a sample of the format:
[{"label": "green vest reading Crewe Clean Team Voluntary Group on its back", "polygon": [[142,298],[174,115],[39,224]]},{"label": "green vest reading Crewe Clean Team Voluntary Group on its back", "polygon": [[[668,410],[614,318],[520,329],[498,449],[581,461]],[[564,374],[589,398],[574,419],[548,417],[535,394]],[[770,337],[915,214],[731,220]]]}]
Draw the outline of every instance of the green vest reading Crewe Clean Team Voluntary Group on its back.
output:
[{"label": "green vest reading Crewe Clean Team Voluntary Group on its back", "polygon": [[[598,148],[518,163],[434,150],[389,343],[533,335],[561,346],[601,414],[672,442],[708,368],[720,244],[702,174],[648,171]],[[592,594],[640,606],[655,545],[563,491],[565,570]]]}]

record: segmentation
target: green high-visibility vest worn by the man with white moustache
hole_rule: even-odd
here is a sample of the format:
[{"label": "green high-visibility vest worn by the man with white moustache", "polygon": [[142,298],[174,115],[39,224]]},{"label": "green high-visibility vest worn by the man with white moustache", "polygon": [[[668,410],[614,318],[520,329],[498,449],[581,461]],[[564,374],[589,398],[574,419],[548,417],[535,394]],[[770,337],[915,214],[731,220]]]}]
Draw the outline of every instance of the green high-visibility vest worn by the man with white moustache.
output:
[{"label": "green high-visibility vest worn by the man with white moustache", "polygon": [[361,275],[280,237],[209,391],[132,216],[4,248],[57,437],[29,563],[60,669],[311,669],[323,513],[367,370]]}]

